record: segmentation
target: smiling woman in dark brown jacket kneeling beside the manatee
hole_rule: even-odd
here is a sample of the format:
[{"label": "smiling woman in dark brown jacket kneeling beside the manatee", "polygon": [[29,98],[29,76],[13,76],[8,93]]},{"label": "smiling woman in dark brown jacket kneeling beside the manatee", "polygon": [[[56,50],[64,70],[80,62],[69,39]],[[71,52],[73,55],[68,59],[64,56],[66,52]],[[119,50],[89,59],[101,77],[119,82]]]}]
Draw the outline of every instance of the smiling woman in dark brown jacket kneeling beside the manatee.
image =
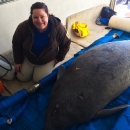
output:
[{"label": "smiling woman in dark brown jacket kneeling beside the manatee", "polygon": [[13,55],[17,78],[28,81],[33,77],[38,82],[64,59],[71,40],[61,20],[50,15],[44,3],[34,3],[30,14],[13,35]]}]

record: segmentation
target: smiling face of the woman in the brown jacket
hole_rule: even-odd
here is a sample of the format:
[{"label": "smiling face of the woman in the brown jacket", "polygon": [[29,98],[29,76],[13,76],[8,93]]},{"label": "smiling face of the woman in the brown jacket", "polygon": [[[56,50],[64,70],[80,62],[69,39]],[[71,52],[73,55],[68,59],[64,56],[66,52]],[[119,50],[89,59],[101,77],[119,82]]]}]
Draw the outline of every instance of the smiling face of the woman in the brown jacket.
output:
[{"label": "smiling face of the woman in the brown jacket", "polygon": [[32,11],[32,21],[36,28],[43,32],[47,29],[48,15],[43,9],[34,9]]}]

